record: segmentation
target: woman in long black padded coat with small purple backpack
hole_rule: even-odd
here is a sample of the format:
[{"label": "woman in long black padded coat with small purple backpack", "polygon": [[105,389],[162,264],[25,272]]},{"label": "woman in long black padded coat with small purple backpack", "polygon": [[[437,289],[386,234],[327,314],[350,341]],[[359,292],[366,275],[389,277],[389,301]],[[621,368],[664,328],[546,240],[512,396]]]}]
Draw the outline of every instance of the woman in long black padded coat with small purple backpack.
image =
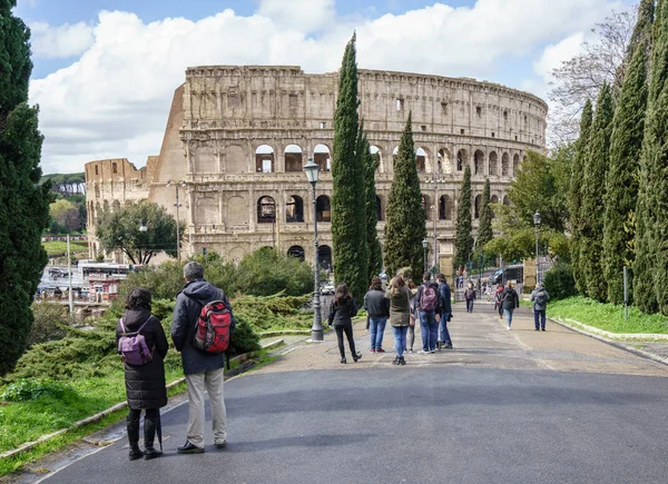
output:
[{"label": "woman in long black padded coat with small purple backpack", "polygon": [[[160,320],[150,314],[150,290],[136,287],[128,295],[126,310],[116,327],[116,347],[125,365],[130,461],[163,455],[163,444],[160,443],[160,451],[157,451],[154,441],[156,431],[160,438],[160,407],[167,405],[164,359],[169,345]],[[141,352],[141,348],[149,353]],[[144,452],[139,450],[141,411],[145,412]]]}]

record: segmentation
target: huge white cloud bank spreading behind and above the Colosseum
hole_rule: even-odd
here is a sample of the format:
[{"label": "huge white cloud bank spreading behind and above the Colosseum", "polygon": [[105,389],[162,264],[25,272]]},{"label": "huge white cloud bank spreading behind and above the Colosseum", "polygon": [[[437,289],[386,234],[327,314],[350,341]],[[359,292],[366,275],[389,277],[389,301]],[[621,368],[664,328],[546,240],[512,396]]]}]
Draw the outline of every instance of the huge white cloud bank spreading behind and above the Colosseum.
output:
[{"label": "huge white cloud bank spreading behind and above the Colosseum", "polygon": [[[612,0],[478,0],[400,16],[337,18],[333,0],[262,0],[253,16],[225,10],[199,21],[144,23],[102,11],[94,41],[71,66],[31,82],[46,135],[46,171],[98,158],[141,165],[157,155],[174,90],[189,66],[298,65],[334,71],[353,30],[361,68],[497,80],[504,60],[529,56],[602,20]],[[316,33],[313,33],[316,32]],[[548,57],[546,62],[548,62]]]}]

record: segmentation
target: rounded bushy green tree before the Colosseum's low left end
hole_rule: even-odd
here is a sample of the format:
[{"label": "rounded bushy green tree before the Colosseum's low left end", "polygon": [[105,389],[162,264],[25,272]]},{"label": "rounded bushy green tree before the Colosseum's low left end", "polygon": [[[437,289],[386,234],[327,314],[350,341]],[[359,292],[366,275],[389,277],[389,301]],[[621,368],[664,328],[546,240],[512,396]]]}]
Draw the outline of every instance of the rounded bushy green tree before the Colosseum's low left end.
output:
[{"label": "rounded bushy green tree before the Colosseum's low left end", "polygon": [[[147,227],[144,233],[139,230],[143,223]],[[105,211],[97,223],[97,236],[105,250],[120,249],[132,264],[148,264],[160,251],[176,256],[176,220],[153,201]]]}]

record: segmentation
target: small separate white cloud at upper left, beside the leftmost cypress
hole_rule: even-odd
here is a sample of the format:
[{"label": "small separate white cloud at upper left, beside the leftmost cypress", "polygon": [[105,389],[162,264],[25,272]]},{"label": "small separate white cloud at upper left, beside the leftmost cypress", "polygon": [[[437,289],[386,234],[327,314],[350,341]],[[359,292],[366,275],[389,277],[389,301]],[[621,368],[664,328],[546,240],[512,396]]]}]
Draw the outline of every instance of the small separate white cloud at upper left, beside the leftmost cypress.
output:
[{"label": "small separate white cloud at upper left, beside the leftmost cypress", "polygon": [[79,56],[92,46],[92,27],[84,22],[51,27],[46,22],[30,23],[32,53],[37,58]]}]

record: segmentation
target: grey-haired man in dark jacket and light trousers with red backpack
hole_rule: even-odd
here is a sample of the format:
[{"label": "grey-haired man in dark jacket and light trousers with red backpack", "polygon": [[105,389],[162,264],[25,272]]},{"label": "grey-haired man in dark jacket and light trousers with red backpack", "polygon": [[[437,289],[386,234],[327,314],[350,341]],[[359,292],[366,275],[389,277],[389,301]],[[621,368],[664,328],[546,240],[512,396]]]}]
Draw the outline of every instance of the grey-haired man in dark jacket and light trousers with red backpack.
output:
[{"label": "grey-haired man in dark jacket and light trousers with red backpack", "polygon": [[204,452],[204,391],[212,405],[214,443],[227,446],[227,414],[223,399],[223,369],[229,335],[236,322],[223,290],[204,279],[204,267],[188,263],[184,267],[186,285],[176,295],[171,339],[181,354],[188,386],[188,431],[179,454]]}]

